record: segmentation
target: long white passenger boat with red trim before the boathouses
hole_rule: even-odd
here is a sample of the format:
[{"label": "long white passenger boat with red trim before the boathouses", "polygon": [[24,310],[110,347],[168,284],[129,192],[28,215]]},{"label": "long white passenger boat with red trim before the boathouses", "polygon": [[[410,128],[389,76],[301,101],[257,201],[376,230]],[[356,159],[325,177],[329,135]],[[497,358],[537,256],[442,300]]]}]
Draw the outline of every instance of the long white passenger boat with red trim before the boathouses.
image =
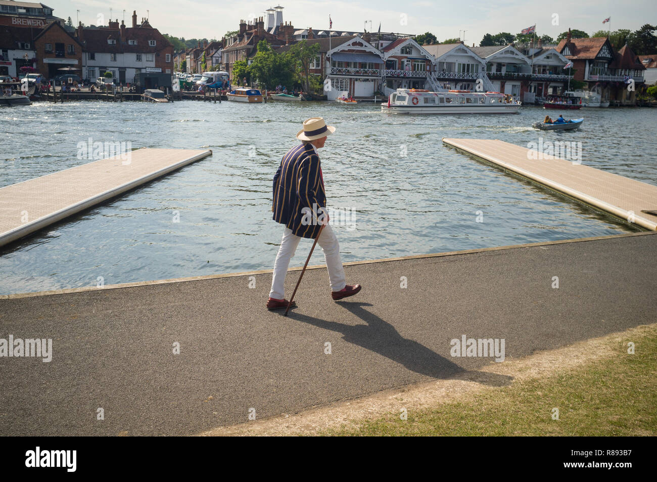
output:
[{"label": "long white passenger boat with red trim before the boathouses", "polygon": [[397,114],[507,114],[518,112],[520,102],[499,92],[397,89],[381,104],[381,112]]}]

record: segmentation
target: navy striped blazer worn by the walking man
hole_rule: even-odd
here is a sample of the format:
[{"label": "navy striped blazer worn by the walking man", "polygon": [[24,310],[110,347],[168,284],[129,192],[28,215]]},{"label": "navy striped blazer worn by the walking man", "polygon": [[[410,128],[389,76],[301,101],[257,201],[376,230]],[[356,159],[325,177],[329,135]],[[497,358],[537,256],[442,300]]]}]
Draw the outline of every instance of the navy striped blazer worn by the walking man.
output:
[{"label": "navy striped blazer worn by the walking man", "polygon": [[312,145],[298,145],[283,156],[273,188],[273,219],[297,236],[317,237],[320,226],[315,216],[321,214],[319,208],[326,207],[327,197],[319,156]]}]

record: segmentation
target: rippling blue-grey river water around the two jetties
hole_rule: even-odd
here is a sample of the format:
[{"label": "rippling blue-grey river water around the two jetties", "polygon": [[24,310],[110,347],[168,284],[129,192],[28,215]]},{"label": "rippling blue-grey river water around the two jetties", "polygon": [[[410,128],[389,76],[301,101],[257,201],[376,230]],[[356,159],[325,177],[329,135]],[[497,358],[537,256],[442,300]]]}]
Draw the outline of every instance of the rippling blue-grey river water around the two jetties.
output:
[{"label": "rippling blue-grey river water around the two jetties", "polygon": [[[657,184],[657,109],[585,108],[571,133],[534,130],[545,112],[401,116],[372,103],[192,101],[0,108],[0,187],[89,162],[78,158],[89,137],[214,153],[5,247],[0,294],[270,269],[283,232],[271,220],[271,180],[311,116],[337,128],[319,152],[329,205],[353,214],[335,228],[344,261],[635,230],[441,141],[581,142],[583,164]],[[322,263],[318,249],[311,264]]]}]

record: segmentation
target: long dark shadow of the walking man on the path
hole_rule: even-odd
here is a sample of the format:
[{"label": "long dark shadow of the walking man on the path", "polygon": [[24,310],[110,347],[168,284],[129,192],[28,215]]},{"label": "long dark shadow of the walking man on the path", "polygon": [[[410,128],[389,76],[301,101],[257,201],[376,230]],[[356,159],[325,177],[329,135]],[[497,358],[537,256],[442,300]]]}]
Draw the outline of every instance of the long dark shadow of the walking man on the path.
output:
[{"label": "long dark shadow of the walking man on the path", "polygon": [[348,343],[385,356],[420,375],[438,379],[476,381],[495,387],[510,385],[513,379],[509,375],[465,370],[421,343],[402,337],[393,325],[363,308],[363,306],[373,306],[370,303],[340,302],[340,306],[363,320],[365,325],[328,322],[321,318],[298,313],[295,313],[292,318],[309,325],[342,333],[343,339]]}]

